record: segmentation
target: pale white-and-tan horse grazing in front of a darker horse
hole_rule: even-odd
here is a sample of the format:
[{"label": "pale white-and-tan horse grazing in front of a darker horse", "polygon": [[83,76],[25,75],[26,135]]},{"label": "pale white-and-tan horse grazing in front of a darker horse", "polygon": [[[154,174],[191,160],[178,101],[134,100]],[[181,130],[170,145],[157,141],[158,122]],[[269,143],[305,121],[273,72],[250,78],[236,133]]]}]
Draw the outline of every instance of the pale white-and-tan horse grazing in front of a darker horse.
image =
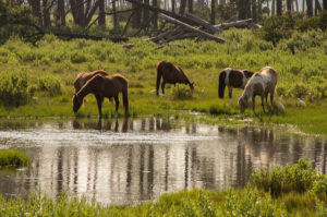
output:
[{"label": "pale white-and-tan horse grazing in front of a darker horse", "polygon": [[244,87],[244,92],[239,99],[240,112],[243,113],[247,107],[247,100],[252,97],[253,112],[255,109],[255,96],[262,97],[262,105],[265,112],[264,97],[268,105],[268,94],[270,94],[270,104],[272,106],[275,87],[277,84],[277,72],[270,68],[265,67],[259,72],[255,73]]}]

